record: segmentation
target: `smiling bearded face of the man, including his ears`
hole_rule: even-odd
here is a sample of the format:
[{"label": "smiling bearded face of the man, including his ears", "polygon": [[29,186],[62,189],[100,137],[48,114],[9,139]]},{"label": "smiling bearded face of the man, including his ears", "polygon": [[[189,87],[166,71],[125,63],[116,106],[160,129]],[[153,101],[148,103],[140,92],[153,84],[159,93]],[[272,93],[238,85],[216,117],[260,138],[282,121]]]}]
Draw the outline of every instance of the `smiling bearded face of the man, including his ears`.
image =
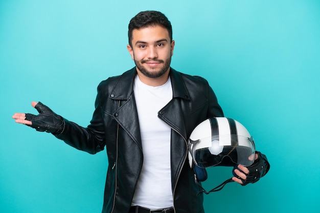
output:
[{"label": "smiling bearded face of the man, including his ears", "polygon": [[159,78],[169,72],[174,41],[170,42],[168,30],[162,26],[149,26],[132,31],[128,51],[134,60],[138,74]]}]

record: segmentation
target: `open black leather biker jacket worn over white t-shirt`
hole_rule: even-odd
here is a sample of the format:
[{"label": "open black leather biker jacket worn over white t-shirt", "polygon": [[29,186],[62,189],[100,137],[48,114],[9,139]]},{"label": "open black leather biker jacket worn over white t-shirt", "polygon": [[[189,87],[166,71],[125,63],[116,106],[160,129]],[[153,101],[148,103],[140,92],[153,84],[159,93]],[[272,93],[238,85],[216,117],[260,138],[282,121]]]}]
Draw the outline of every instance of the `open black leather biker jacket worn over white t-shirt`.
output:
[{"label": "open black leather biker jacket worn over white t-shirt", "polygon": [[[65,143],[95,154],[106,146],[108,171],[102,212],[128,212],[143,164],[138,113],[133,94],[135,67],[98,86],[95,112],[87,128],[66,119]],[[175,212],[199,213],[203,196],[188,164],[187,140],[197,124],[222,117],[217,98],[205,79],[171,68],[172,100],[158,117],[171,127],[171,180]]]}]

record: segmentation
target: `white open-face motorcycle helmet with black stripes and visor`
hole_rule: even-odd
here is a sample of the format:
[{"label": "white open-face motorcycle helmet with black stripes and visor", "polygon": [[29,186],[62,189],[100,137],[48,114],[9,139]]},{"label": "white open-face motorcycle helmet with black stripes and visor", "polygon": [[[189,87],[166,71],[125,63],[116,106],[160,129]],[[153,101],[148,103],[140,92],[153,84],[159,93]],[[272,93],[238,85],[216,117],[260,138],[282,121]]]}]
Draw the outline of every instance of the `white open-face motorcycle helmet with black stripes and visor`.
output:
[{"label": "white open-face motorcycle helmet with black stripes and visor", "polygon": [[189,165],[200,168],[219,166],[224,158],[234,164],[250,166],[255,160],[255,143],[238,121],[214,117],[201,122],[188,140]]}]

